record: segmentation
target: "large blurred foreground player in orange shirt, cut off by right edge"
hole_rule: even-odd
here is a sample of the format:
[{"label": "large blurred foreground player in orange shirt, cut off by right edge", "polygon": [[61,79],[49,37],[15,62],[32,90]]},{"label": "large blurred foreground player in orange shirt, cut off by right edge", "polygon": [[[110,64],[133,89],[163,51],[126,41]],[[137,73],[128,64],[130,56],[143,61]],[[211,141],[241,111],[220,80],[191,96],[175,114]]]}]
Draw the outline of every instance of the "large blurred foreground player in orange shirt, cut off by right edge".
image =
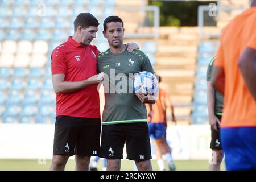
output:
[{"label": "large blurred foreground player in orange shirt, cut off by right edge", "polygon": [[221,36],[212,85],[224,94],[221,141],[228,170],[256,170],[256,0]]}]

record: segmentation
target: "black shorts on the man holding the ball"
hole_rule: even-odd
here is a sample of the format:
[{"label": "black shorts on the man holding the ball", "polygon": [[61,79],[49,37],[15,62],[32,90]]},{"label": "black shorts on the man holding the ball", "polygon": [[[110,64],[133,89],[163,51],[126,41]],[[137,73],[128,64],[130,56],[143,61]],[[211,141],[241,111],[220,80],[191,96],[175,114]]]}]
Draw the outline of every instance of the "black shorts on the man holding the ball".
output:
[{"label": "black shorts on the man holding the ball", "polygon": [[126,144],[127,159],[144,161],[151,159],[148,126],[143,123],[103,125],[101,134],[101,158],[122,159]]}]

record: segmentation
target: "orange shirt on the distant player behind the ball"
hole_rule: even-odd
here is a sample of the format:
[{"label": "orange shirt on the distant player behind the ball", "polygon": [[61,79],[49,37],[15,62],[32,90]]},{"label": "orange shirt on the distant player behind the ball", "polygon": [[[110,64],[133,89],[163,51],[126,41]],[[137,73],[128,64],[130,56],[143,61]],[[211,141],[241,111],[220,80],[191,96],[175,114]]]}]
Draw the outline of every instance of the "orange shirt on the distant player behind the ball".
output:
[{"label": "orange shirt on the distant player behind the ball", "polygon": [[[166,107],[167,103],[170,102],[168,99],[168,96],[164,90],[162,90],[159,86],[159,94],[158,94],[158,100],[155,104],[152,105],[153,110],[153,118],[152,123],[164,123],[166,122]],[[171,102],[168,103],[168,105],[171,105]],[[150,111],[150,108],[148,104],[146,104],[147,112]]]}]

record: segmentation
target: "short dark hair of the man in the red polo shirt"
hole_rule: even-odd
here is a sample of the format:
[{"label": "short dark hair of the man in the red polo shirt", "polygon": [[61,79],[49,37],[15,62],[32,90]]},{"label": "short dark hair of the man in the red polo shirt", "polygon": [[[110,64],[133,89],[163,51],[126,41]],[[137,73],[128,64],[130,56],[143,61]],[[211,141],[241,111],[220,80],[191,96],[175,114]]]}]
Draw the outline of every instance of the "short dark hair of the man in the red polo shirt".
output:
[{"label": "short dark hair of the man in the red polo shirt", "polygon": [[98,23],[98,20],[92,14],[80,13],[74,20],[74,31],[77,30],[78,26],[81,26],[82,28],[88,28],[89,26],[98,27],[99,24],[100,23]]}]

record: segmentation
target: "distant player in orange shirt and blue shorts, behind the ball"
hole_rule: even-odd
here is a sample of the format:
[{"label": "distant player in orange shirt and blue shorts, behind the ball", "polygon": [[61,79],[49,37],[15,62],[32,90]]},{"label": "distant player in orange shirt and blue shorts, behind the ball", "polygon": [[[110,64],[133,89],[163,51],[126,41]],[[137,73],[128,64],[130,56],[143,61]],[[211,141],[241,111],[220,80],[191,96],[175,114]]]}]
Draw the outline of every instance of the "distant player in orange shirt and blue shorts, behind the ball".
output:
[{"label": "distant player in orange shirt and blue shorts, behind the ball", "polygon": [[[150,119],[148,117],[149,134],[151,139],[154,140],[156,159],[160,171],[166,170],[162,156],[166,158],[170,171],[175,171],[175,163],[174,159],[172,158],[171,148],[166,141],[166,111],[167,107],[169,106],[172,113],[172,121],[176,123],[176,119],[174,116],[174,107],[171,104],[170,97],[166,94],[166,92],[164,92],[164,89],[162,89],[160,86],[161,77],[158,77],[159,95],[157,102],[152,105],[152,118]],[[147,112],[150,113],[149,105],[147,104],[146,107]]]}]

